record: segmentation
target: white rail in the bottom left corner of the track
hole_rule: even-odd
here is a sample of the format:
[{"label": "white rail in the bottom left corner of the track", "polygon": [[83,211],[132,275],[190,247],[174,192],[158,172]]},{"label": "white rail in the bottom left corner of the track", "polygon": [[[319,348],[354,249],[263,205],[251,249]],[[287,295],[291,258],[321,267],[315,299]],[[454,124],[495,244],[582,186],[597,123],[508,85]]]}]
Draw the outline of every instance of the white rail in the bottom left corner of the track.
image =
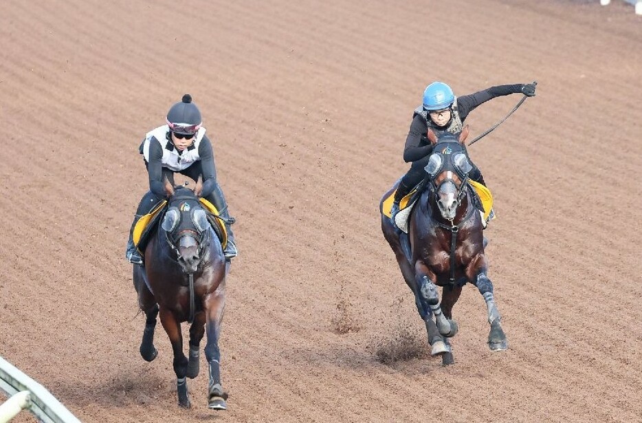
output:
[{"label": "white rail in the bottom left corner of the track", "polygon": [[0,391],[9,399],[0,405],[0,423],[28,409],[45,423],[80,423],[43,385],[0,357]]}]

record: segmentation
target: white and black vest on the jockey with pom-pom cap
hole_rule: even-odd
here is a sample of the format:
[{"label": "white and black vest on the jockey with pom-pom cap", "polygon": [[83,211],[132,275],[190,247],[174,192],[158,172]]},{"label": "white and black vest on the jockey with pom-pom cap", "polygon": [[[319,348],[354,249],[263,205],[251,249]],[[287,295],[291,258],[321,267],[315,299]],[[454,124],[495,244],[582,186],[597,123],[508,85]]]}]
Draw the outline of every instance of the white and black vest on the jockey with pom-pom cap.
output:
[{"label": "white and black vest on the jockey with pom-pom cap", "polygon": [[175,172],[187,169],[194,162],[201,160],[199,156],[199,144],[201,144],[205,131],[206,129],[201,127],[195,136],[194,143],[179,154],[174,144],[168,140],[167,133],[169,132],[169,127],[167,125],[152,129],[145,135],[145,140],[143,141],[143,157],[149,162],[149,145],[151,142],[159,142],[163,149],[163,158],[161,160],[163,167]]}]

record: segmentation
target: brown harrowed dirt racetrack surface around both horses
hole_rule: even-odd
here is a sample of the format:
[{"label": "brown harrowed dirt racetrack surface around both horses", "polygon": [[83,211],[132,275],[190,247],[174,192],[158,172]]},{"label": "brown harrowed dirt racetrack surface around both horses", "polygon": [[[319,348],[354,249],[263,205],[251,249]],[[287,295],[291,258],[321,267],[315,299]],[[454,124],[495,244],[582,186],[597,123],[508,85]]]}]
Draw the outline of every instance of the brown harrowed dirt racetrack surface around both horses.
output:
[{"label": "brown harrowed dirt racetrack surface around both horses", "polygon": [[[0,356],[82,422],[642,422],[642,17],[398,3],[5,1]],[[428,354],[377,210],[432,80],[460,95],[538,80],[469,149],[496,197],[509,350],[489,351],[468,285],[452,367]],[[123,257],[138,144],[184,93],[238,220],[218,413],[202,355],[177,407],[160,325],[158,358],[140,358]],[[518,100],[476,109],[472,136]]]}]

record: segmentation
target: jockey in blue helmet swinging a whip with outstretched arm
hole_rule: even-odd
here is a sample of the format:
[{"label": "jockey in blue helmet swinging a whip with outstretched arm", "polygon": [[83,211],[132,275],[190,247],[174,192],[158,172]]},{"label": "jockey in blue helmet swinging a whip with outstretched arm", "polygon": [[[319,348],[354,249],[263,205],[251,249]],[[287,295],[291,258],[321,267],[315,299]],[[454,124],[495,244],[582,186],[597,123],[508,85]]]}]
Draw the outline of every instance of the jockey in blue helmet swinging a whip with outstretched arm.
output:
[{"label": "jockey in blue helmet swinging a whip with outstretched arm", "polygon": [[[412,114],[406,147],[403,149],[403,160],[412,162],[412,164],[408,173],[401,178],[395,192],[390,210],[392,225],[397,226],[395,215],[399,212],[401,199],[408,195],[412,188],[425,177],[423,168],[428,164],[428,159],[432,154],[432,144],[426,138],[428,129],[432,129],[437,135],[443,132],[460,133],[468,113],[476,107],[492,98],[518,93],[529,97],[535,96],[535,84],[498,85],[461,97],[456,97],[452,89],[445,83],[434,82],[425,87],[423,104],[417,107]],[[473,167],[469,172],[470,179],[486,186],[479,168],[471,160],[469,162]],[[492,215],[491,210],[491,217]]]}]

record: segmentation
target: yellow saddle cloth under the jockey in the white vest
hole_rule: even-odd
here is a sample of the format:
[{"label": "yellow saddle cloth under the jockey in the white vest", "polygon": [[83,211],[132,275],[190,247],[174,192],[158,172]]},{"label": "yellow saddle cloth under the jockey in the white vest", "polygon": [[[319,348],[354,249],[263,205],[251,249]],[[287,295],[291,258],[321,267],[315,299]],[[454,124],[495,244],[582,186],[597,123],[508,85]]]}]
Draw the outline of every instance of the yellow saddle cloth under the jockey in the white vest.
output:
[{"label": "yellow saddle cloth under the jockey in the white vest", "polygon": [[[214,233],[219,238],[219,241],[221,241],[221,246],[225,248],[228,243],[228,232],[225,230],[225,225],[221,219],[218,218],[219,210],[217,210],[214,204],[208,202],[208,200],[204,198],[199,198],[199,202],[201,202],[201,205],[206,210],[210,226],[212,226]],[[165,212],[168,208],[167,206],[167,200],[163,200],[149,213],[138,219],[136,226],[134,226],[133,241],[140,254],[145,253],[145,248],[151,238],[151,235],[156,230],[159,221],[165,217]]]}]

